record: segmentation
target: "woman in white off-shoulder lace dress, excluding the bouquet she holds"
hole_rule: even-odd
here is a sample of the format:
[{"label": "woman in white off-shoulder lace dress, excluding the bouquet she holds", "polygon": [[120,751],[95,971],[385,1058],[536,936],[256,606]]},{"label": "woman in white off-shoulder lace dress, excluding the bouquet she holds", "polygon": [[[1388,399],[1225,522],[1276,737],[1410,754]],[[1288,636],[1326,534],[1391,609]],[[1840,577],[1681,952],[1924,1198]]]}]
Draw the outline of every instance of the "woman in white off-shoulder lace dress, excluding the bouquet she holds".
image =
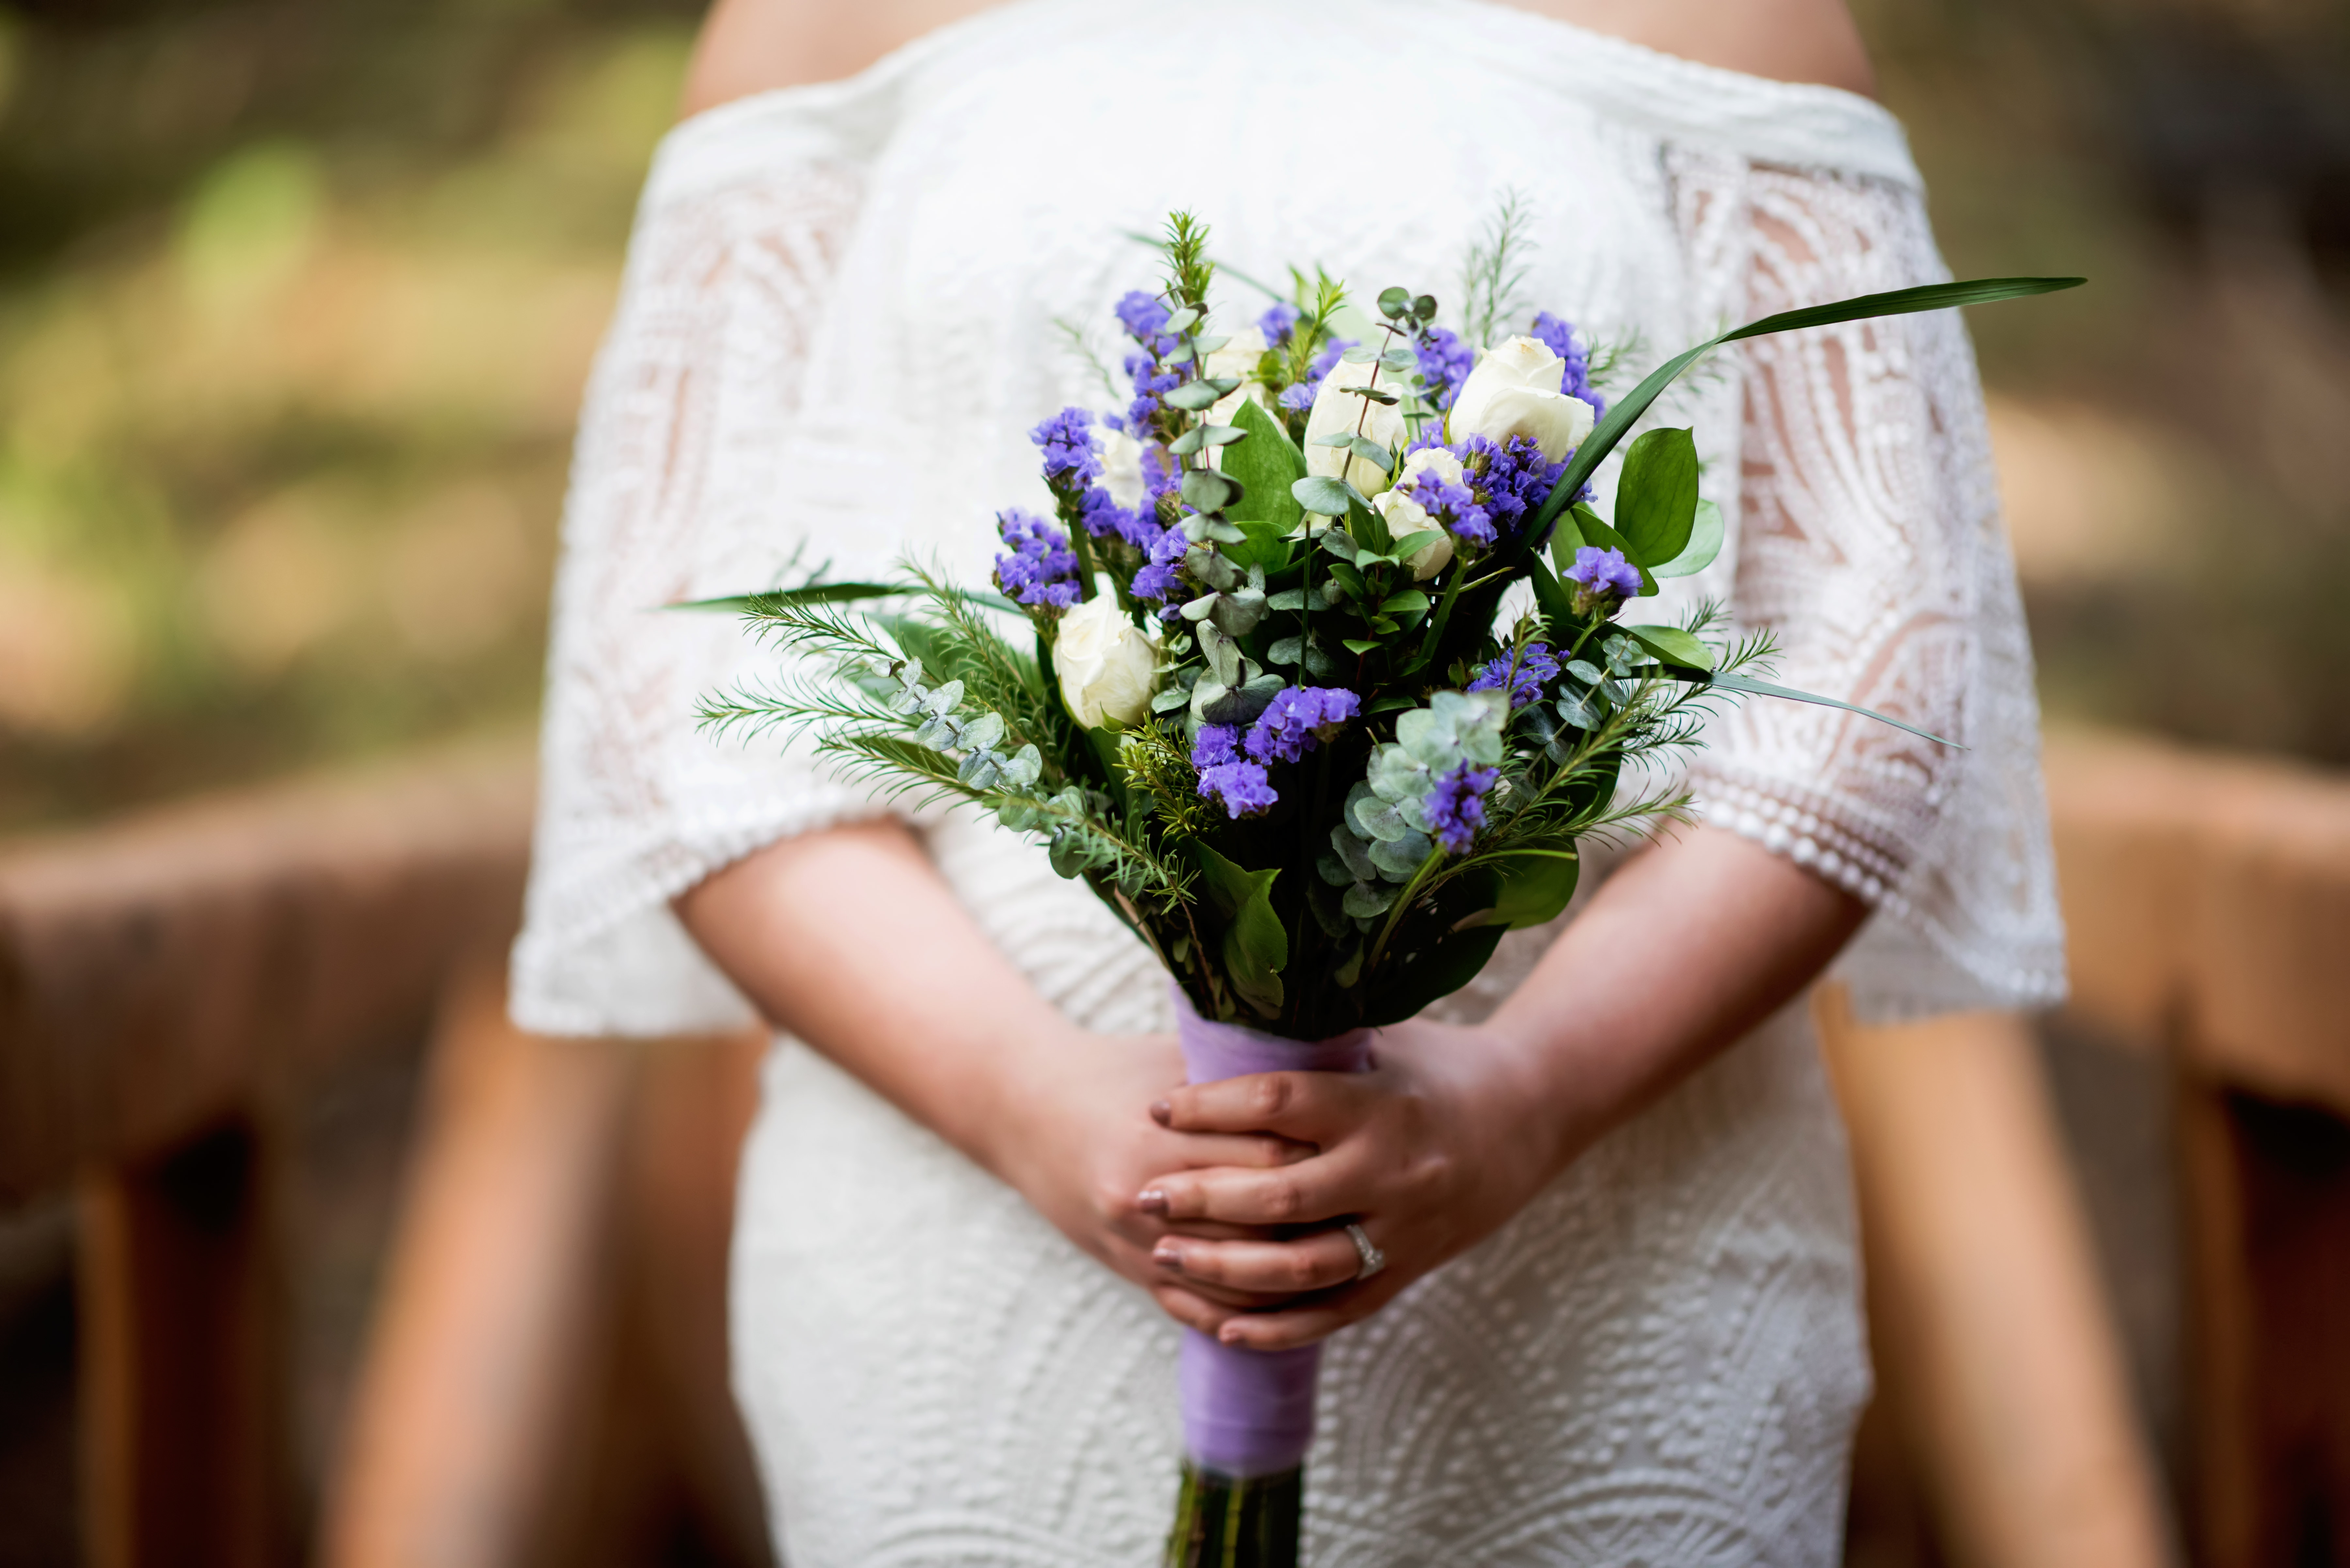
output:
[{"label": "woman in white off-shoulder lace dress, excluding the bouquet she holds", "polygon": [[[1177,1324],[1335,1335],[1314,1563],[1838,1559],[1868,1366],[1805,992],[1833,966],[1885,1018],[2063,987],[1955,313],[1762,339],[1659,414],[1732,520],[1687,592],[1774,628],[1788,684],[1967,750],[1727,715],[1704,825],[1361,1079],[1184,1088],[1163,976],[1081,886],[696,733],[761,654],[656,607],[907,550],[985,581],[1027,428],[1102,402],[1072,334],[1116,357],[1156,270],[1130,235],[1175,207],[1227,275],[1445,296],[1516,193],[1499,331],[1560,313],[1631,376],[1939,280],[1868,85],[1840,0],[717,7],[580,425],[515,1016],[778,1030],[733,1378],[790,1563],[1154,1561]],[[1229,320],[1262,310],[1234,287]]]}]

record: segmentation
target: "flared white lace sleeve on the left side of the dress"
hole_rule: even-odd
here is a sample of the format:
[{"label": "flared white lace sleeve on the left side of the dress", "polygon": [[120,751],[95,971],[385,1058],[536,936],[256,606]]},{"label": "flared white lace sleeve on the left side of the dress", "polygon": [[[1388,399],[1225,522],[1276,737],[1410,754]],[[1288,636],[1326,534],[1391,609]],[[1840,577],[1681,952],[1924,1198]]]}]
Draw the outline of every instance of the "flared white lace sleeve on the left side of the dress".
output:
[{"label": "flared white lace sleeve on the left side of the dress", "polygon": [[731,616],[658,609],[771,581],[801,543],[780,447],[860,176],[783,158],[677,183],[656,169],[646,193],[564,505],[512,973],[517,1023],[557,1034],[747,1023],[670,898],[766,842],[881,811],[771,741],[700,733],[696,698],[757,646]]}]

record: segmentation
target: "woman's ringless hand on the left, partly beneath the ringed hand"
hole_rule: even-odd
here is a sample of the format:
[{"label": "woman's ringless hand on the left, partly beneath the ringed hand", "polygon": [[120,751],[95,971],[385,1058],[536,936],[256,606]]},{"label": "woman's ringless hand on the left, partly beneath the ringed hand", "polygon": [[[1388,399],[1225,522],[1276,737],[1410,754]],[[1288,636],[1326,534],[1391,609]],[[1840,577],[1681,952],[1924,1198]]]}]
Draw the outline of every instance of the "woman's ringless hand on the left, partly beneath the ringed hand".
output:
[{"label": "woman's ringless hand on the left, partly beneath the ringed hand", "polygon": [[[985,1164],[1076,1246],[1182,1321],[1274,1305],[1278,1295],[1187,1281],[1154,1265],[1152,1246],[1168,1227],[1135,1194],[1168,1171],[1271,1171],[1314,1150],[1257,1131],[1180,1131],[1154,1121],[1144,1107],[1175,1093],[1184,1077],[1173,1034],[1093,1034],[1072,1025],[1036,1046],[1022,1053],[1027,1070],[1006,1086]],[[1267,1234],[1241,1225],[1194,1229],[1220,1239]]]}]

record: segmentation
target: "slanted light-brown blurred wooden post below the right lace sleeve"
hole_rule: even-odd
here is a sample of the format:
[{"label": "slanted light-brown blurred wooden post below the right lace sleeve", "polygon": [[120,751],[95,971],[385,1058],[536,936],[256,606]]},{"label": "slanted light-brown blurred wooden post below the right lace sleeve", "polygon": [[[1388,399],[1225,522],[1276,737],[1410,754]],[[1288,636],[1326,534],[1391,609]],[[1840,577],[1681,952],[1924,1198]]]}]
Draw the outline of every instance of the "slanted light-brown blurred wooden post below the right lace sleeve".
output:
[{"label": "slanted light-brown blurred wooden post below the right lace sleeve", "polygon": [[2153,1458],[2009,1013],[1819,1032],[1852,1131],[1880,1399],[1960,1568],[2160,1568]]}]

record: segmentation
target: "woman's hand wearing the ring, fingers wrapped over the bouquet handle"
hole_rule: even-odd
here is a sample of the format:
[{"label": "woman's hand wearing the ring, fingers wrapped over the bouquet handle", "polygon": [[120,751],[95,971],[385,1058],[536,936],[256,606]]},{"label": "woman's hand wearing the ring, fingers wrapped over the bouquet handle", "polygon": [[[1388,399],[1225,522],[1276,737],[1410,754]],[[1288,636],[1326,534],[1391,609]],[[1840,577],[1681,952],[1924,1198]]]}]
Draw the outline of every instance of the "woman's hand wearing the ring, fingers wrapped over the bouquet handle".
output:
[{"label": "woman's hand wearing the ring, fingers wrapped over the bouquet handle", "polygon": [[[1177,1133],[1278,1133],[1316,1145],[1267,1168],[1168,1168],[1137,1206],[1166,1220],[1161,1279],[1180,1321],[1227,1345],[1285,1349],[1370,1316],[1408,1284],[1483,1241],[1565,1164],[1572,1117],[1549,1105],[1523,1048],[1438,1023],[1379,1030],[1363,1074],[1262,1072],[1166,1093],[1154,1119]],[[1356,1284],[1354,1220],[1386,1267]],[[1281,1227],[1253,1239],[1210,1227]],[[1276,1239],[1288,1237],[1288,1239]],[[1290,1295],[1255,1307],[1231,1293]]]}]

